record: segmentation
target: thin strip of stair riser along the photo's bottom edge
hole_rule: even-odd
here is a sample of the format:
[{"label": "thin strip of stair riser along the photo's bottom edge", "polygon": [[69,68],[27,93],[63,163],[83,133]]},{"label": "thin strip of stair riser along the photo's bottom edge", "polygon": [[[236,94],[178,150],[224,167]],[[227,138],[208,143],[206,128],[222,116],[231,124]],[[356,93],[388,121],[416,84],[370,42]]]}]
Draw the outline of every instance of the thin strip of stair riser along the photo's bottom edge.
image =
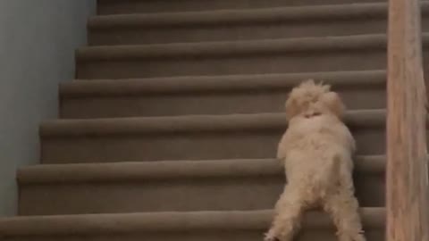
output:
[{"label": "thin strip of stair riser along the photo's bottom edge", "polygon": [[[268,228],[268,227],[267,227]],[[183,233],[145,233],[140,234],[109,234],[109,235],[86,235],[86,236],[55,236],[55,237],[6,237],[4,241],[261,241],[264,238],[265,229],[260,230],[242,230],[242,231],[188,231]],[[384,240],[382,230],[368,230],[366,231],[368,241],[381,241]],[[334,235],[334,230],[303,230],[301,235],[296,238],[296,241],[337,241]]]}]

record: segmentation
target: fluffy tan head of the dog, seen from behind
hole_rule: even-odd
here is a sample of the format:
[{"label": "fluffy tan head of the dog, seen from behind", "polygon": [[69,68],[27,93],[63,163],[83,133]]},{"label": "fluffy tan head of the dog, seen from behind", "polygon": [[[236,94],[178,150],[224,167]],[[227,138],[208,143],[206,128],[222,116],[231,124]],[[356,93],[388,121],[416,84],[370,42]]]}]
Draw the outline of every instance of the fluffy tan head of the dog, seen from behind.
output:
[{"label": "fluffy tan head of the dog, seen from behind", "polygon": [[322,114],[332,114],[341,120],[345,111],[340,96],[331,91],[330,86],[316,84],[313,79],[294,87],[285,107],[288,120],[296,116],[310,118]]}]

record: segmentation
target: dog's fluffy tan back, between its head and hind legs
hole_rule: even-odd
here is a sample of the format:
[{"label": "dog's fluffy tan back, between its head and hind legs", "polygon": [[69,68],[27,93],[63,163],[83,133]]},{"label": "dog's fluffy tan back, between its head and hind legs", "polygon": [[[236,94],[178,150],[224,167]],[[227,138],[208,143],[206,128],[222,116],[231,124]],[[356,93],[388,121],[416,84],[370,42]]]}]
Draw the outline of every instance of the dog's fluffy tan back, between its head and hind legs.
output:
[{"label": "dog's fluffy tan back, between its head and hind legs", "polygon": [[288,182],[311,187],[320,195],[338,177],[342,165],[352,168],[354,140],[334,116],[291,120],[278,148]]}]

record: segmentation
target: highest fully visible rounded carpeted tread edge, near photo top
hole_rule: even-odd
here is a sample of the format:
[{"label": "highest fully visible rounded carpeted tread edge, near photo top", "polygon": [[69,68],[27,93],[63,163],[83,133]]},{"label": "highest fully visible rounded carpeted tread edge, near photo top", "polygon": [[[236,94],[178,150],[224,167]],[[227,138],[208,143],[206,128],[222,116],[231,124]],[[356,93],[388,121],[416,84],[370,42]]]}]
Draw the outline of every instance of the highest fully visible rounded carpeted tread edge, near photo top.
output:
[{"label": "highest fully visible rounded carpeted tread edge, near photo top", "polygon": [[[429,7],[422,1],[422,10]],[[307,21],[350,18],[385,18],[387,3],[324,4],[259,9],[223,9],[199,12],[163,12],[98,15],[88,21],[89,29],[161,27],[192,24],[234,24],[243,22]]]}]

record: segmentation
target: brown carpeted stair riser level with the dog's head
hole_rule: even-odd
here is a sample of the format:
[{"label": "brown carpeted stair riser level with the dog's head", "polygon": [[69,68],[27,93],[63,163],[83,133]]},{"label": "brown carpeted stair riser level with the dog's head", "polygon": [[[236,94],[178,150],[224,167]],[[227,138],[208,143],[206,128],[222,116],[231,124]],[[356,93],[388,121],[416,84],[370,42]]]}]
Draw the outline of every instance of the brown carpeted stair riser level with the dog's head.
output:
[{"label": "brown carpeted stair riser level with the dog's head", "polygon": [[[385,108],[385,87],[335,88],[350,110]],[[196,93],[129,96],[83,96],[61,99],[62,118],[102,118],[165,116],[183,114],[229,114],[283,112],[290,87],[240,92],[210,91]]]}]

